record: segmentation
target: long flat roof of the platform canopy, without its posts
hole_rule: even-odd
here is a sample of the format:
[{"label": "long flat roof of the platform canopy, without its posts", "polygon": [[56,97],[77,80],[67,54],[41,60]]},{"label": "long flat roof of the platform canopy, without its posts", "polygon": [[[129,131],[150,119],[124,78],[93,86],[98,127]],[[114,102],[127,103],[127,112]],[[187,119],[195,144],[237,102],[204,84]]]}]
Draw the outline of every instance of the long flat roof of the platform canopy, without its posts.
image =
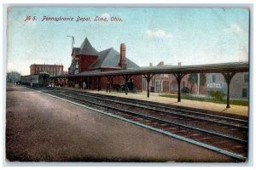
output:
[{"label": "long flat roof of the platform canopy, without its posts", "polygon": [[248,62],[230,62],[209,65],[182,65],[182,66],[151,66],[116,71],[84,71],[75,75],[60,75],[51,78],[68,77],[108,77],[124,75],[148,75],[148,74],[191,74],[191,73],[223,73],[223,72],[248,72]]}]

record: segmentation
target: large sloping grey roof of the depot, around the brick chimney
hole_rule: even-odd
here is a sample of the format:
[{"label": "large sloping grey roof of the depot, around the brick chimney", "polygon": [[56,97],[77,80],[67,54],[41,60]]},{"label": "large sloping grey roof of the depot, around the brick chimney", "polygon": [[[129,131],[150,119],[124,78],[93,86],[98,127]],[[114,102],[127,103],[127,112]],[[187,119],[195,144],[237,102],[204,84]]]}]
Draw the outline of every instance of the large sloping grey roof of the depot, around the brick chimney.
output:
[{"label": "large sloping grey roof of the depot, around the brick chimney", "polygon": [[[108,67],[108,68],[120,68],[119,57],[120,54],[113,48],[105,49],[98,53],[98,59],[90,66],[91,69]],[[128,68],[139,68],[134,62],[126,58],[127,69]]]}]

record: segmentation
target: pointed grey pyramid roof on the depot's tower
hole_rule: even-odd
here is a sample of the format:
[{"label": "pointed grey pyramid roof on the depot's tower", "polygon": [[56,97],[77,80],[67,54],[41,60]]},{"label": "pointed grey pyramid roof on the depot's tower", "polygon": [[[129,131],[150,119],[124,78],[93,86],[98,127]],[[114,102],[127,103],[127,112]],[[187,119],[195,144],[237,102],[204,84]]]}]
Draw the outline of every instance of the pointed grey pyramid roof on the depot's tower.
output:
[{"label": "pointed grey pyramid roof on the depot's tower", "polygon": [[95,48],[92,47],[87,37],[85,37],[84,42],[81,44],[79,49],[74,48],[76,50],[77,55],[84,54],[84,55],[97,55],[97,51]]}]

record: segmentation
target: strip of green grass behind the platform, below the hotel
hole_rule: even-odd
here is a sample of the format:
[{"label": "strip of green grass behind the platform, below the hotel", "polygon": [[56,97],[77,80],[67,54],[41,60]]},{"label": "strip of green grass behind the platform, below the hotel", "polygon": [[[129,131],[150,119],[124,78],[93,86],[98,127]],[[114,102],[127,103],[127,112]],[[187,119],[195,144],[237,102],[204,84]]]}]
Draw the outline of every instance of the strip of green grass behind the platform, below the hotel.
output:
[{"label": "strip of green grass behind the platform, below the hotel", "polygon": [[[177,94],[161,94],[161,97],[167,97],[167,98],[177,98]],[[190,100],[196,100],[196,101],[207,101],[207,102],[212,102],[212,103],[218,103],[218,104],[226,104],[227,100],[223,99],[221,101],[217,99],[212,99],[212,98],[205,98],[205,97],[196,97],[196,96],[191,96],[189,94],[187,95],[181,95],[181,99],[190,99]],[[230,99],[230,105],[244,105],[248,106],[249,101],[246,99]]]}]

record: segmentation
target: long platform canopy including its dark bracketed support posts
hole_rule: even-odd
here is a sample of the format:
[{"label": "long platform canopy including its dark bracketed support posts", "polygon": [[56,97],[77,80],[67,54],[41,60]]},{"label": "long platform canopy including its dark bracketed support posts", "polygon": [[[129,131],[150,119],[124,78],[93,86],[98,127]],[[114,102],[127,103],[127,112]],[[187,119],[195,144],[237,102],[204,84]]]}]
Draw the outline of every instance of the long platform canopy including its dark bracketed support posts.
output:
[{"label": "long platform canopy including its dark bracketed support posts", "polygon": [[[128,79],[135,75],[143,75],[148,82],[148,94],[149,97],[149,82],[150,79],[157,74],[172,74],[176,77],[177,80],[177,102],[181,101],[181,89],[180,84],[181,80],[186,74],[191,73],[220,73],[224,76],[225,82],[227,83],[227,106],[230,108],[230,82],[232,77],[237,72],[248,72],[249,63],[248,62],[232,62],[232,63],[219,63],[219,64],[210,64],[210,65],[168,65],[168,66],[149,66],[149,67],[140,67],[133,69],[124,69],[116,71],[100,71],[100,70],[90,70],[80,72],[75,75],[60,75],[54,76],[51,78],[78,78],[78,77],[115,77],[122,76],[125,78],[125,82],[128,82]],[[125,86],[127,83],[125,83]],[[126,88],[125,88],[126,89]],[[127,90],[125,90],[127,94]]]}]

